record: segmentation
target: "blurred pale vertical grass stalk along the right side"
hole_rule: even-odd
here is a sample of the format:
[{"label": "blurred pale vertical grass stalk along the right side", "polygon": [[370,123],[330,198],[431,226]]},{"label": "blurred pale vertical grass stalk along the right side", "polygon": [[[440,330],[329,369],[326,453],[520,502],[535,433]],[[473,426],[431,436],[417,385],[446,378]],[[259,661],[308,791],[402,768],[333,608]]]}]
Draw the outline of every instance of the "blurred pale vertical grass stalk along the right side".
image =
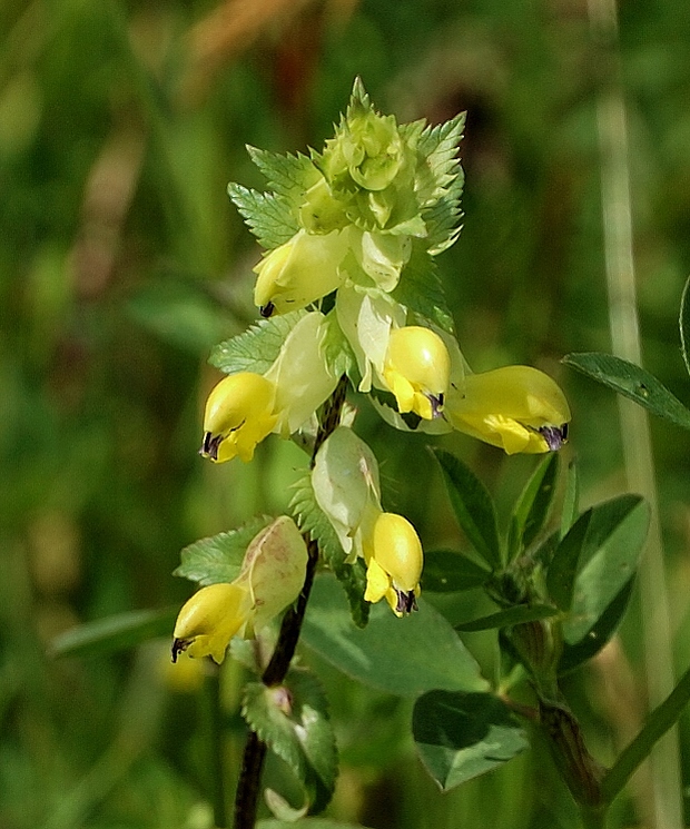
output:
[{"label": "blurred pale vertical grass stalk along the right side", "polygon": [[[598,101],[598,130],[611,346],[618,357],[641,364],[618,11],[615,0],[589,0],[588,8],[595,46],[608,68]],[[669,695],[674,684],[654,460],[647,412],[619,396],[619,415],[628,486],[644,495],[652,512],[639,583],[648,699],[650,709],[653,709]],[[650,760],[651,802],[647,805],[649,815],[645,822],[657,829],[681,829],[682,788],[677,729],[657,743]]]}]

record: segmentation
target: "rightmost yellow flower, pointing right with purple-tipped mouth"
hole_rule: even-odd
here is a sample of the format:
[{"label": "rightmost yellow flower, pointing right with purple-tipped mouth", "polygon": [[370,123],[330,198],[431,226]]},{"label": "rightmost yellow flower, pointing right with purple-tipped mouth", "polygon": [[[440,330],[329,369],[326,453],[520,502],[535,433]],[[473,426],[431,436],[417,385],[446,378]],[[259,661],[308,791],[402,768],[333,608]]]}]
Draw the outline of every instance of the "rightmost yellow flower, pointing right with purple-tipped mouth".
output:
[{"label": "rightmost yellow flower, pointing right with purple-tipped mouth", "polygon": [[465,375],[444,416],[459,432],[518,452],[554,452],[568,440],[570,407],[556,383],[531,366]]}]

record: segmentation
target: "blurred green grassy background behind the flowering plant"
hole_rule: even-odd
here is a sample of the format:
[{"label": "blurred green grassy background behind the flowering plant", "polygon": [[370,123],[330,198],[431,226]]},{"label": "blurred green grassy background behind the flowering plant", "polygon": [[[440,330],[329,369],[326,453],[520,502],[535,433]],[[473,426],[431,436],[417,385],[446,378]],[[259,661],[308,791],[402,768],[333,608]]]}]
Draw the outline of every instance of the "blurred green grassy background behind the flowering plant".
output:
[{"label": "blurred green grassy background behind the flowering plant", "polygon": [[[690,273],[690,16],[620,9],[639,312],[647,368],[690,401],[678,306]],[[3,0],[0,4],[0,828],[210,826],[204,695],[170,679],[169,641],[53,659],[72,625],[179,605],[180,549],[280,511],[304,463],[197,455],[213,344],[256,318],[258,248],[226,196],[262,187],[245,144],[328,137],[361,75],[400,120],[467,110],[465,227],[440,259],[475,369],[531,363],[573,408],[584,505],[625,488],[614,396],[559,365],[610,351],[595,105],[610,61],[584,0]],[[461,544],[415,435],[363,405],[384,505],[428,547]],[[690,437],[652,424],[673,648],[690,663]],[[507,509],[533,458],[445,438]],[[414,470],[414,475],[410,471]],[[470,616],[479,598],[447,608]],[[467,644],[491,672],[491,640]],[[621,643],[622,642],[622,643]],[[603,761],[644,710],[641,622],[568,690]],[[545,749],[441,796],[408,736],[411,701],[316,664],[342,777],[329,813],[388,827],[570,827]],[[241,672],[223,674],[230,764]],[[181,690],[180,690],[181,689]],[[186,689],[186,690],[185,690]],[[681,731],[683,779],[690,734]],[[283,770],[268,769],[269,779]],[[283,784],[283,783],[276,783]],[[633,786],[613,826],[644,818]]]}]

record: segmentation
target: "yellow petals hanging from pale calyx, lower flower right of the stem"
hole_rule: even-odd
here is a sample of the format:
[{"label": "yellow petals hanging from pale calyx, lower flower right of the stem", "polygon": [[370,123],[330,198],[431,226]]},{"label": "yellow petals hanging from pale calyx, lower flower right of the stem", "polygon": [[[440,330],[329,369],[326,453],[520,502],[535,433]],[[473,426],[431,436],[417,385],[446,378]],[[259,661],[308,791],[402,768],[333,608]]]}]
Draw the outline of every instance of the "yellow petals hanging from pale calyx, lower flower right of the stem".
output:
[{"label": "yellow petals hanging from pale calyx, lower flower right of the stem", "polygon": [[364,559],[365,601],[385,599],[396,616],[417,609],[424,560],[420,537],[407,519],[382,512],[364,545]]}]

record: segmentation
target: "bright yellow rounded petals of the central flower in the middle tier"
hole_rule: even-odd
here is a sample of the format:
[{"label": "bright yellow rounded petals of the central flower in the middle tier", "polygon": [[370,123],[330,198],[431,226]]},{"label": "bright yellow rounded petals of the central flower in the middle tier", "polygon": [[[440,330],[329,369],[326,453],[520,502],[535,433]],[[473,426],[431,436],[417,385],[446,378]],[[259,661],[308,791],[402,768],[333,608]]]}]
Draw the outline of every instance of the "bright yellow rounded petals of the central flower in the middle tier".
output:
[{"label": "bright yellow rounded petals of the central flower in the middle tier", "polygon": [[438,417],[450,374],[447,348],[433,330],[411,325],[391,332],[383,378],[400,412],[415,412],[425,421]]}]

